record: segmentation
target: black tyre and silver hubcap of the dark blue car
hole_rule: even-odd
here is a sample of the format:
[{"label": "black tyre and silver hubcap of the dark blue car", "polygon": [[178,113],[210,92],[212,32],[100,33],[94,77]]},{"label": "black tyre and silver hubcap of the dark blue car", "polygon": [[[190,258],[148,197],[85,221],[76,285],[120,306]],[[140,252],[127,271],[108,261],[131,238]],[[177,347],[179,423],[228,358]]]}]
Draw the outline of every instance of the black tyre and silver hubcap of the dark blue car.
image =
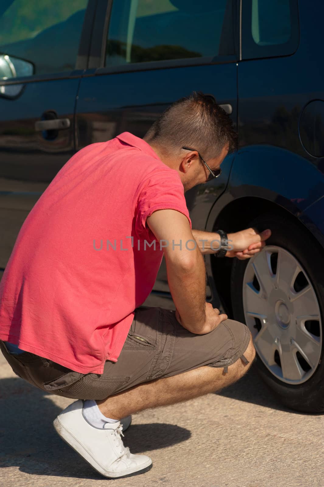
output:
[{"label": "black tyre and silver hubcap of the dark blue car", "polygon": [[272,231],[251,259],[234,259],[234,319],[251,330],[255,367],[286,406],[324,412],[324,252],[297,219],[265,215],[249,226]]}]

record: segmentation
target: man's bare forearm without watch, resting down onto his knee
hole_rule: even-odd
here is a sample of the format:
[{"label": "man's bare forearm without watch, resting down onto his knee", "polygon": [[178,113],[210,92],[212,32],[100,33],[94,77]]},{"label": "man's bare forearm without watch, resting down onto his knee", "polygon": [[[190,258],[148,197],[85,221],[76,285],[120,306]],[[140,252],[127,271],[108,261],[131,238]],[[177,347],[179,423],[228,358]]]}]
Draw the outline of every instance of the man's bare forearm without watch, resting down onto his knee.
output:
[{"label": "man's bare forearm without watch, resting down onto his knee", "polygon": [[186,264],[172,261],[166,255],[166,269],[173,301],[180,314],[182,326],[200,333],[206,318],[206,270],[199,249],[190,252]]}]

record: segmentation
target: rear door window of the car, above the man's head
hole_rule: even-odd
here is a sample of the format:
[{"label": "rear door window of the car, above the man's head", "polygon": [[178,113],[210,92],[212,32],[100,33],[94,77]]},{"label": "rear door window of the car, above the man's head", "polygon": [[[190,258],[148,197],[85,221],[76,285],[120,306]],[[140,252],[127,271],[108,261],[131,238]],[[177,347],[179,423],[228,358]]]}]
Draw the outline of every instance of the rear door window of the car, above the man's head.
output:
[{"label": "rear door window of the car, above the man's head", "polygon": [[106,66],[234,54],[232,0],[114,0]]}]

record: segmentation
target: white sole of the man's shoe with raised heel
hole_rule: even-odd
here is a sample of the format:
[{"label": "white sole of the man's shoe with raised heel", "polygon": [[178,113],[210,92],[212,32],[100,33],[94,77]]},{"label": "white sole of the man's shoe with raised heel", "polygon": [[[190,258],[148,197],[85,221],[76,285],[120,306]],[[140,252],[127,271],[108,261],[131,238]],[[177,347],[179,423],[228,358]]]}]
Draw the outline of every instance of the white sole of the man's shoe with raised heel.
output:
[{"label": "white sole of the man's shoe with raised heel", "polygon": [[[78,440],[70,433],[69,430],[65,428],[64,425],[59,421],[58,418],[55,418],[53,421],[54,428],[57,432],[57,434],[62,438],[62,440],[65,441],[74,451],[76,451],[86,462],[89,463],[89,465],[94,468],[97,472],[99,472],[101,475],[103,475],[106,478],[109,479],[123,479],[126,477],[133,477],[133,475],[139,475],[141,473],[145,473],[148,470],[150,470],[153,467],[153,462],[149,465],[146,465],[144,468],[141,470],[134,470],[130,473],[127,473],[125,475],[118,475],[114,474],[114,472],[108,472],[104,468],[102,468],[96,461],[95,459],[90,455],[90,453],[78,442]],[[144,464],[145,465],[145,464]]]}]

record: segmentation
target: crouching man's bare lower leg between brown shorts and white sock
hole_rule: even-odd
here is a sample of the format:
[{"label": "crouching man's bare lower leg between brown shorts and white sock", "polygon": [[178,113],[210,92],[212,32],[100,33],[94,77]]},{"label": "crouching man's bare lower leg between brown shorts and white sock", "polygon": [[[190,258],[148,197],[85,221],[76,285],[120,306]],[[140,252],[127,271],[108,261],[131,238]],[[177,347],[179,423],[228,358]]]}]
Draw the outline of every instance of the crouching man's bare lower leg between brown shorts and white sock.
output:
[{"label": "crouching man's bare lower leg between brown shorts and white sock", "polygon": [[245,365],[239,358],[228,367],[227,374],[224,374],[223,367],[199,367],[172,377],[145,382],[96,402],[104,416],[121,419],[145,409],[168,406],[220,391],[249,370],[255,357],[252,337],[244,356],[250,363]]}]

